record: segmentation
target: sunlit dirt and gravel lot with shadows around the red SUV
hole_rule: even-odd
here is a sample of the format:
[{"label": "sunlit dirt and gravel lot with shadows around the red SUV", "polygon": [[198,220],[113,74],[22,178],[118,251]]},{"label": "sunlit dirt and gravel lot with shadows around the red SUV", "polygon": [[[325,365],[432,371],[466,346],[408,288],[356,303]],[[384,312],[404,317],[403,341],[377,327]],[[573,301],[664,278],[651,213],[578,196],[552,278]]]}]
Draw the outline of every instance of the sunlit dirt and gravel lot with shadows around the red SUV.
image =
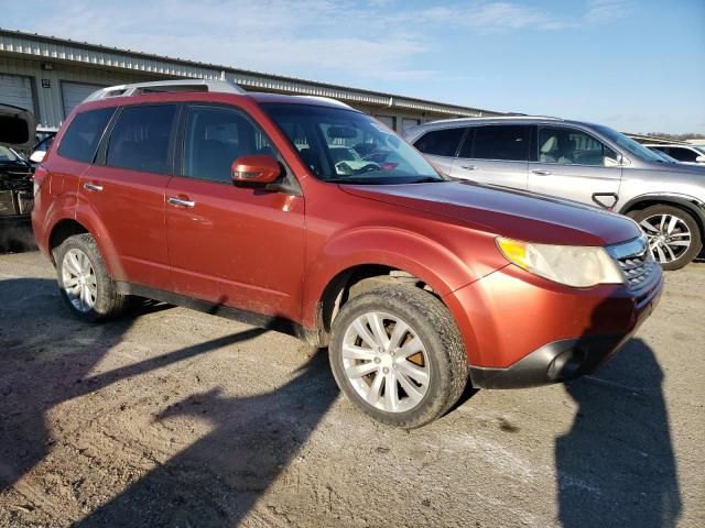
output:
[{"label": "sunlit dirt and gravel lot with shadows around the red SUV", "polygon": [[0,526],[702,527],[703,314],[701,263],[596,376],[404,432],[293,338],[163,306],[86,326],[37,253],[0,255]]}]

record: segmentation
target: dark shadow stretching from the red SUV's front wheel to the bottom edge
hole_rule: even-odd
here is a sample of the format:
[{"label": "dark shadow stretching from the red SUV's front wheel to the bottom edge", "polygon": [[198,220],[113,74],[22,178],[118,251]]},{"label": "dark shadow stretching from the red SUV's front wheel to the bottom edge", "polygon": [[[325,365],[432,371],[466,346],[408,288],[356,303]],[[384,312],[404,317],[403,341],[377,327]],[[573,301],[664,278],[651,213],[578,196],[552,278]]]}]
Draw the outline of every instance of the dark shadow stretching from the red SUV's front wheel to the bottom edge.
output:
[{"label": "dark shadow stretching from the red SUV's front wheel to the bottom edge", "polygon": [[207,419],[212,432],[76,527],[237,526],[299,453],[338,389],[318,352],[283,386],[250,397],[221,389],[189,396],[155,420]]}]

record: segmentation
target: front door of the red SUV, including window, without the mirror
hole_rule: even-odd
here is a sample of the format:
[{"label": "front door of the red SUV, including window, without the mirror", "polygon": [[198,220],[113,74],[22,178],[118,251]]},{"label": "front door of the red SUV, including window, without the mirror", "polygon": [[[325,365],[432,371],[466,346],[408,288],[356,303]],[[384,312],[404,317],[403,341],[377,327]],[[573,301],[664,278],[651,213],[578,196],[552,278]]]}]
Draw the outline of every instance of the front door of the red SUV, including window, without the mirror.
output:
[{"label": "front door of the red SUV, including window, without the mirror", "polygon": [[194,105],[186,114],[183,145],[181,169],[166,189],[174,289],[299,320],[303,196],[235,187],[230,179],[230,165],[239,156],[278,156],[270,141],[235,107]]}]

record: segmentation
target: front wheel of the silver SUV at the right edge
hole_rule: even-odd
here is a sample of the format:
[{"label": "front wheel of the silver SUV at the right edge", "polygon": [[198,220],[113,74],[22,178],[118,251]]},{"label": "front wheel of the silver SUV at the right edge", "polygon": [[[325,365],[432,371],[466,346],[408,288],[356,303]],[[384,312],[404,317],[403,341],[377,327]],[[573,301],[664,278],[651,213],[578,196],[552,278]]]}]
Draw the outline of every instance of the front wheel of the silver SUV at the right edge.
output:
[{"label": "front wheel of the silver SUV at the right edge", "polygon": [[683,209],[659,205],[631,211],[628,216],[647,233],[653,257],[663,270],[682,268],[693,262],[703,249],[701,228]]}]

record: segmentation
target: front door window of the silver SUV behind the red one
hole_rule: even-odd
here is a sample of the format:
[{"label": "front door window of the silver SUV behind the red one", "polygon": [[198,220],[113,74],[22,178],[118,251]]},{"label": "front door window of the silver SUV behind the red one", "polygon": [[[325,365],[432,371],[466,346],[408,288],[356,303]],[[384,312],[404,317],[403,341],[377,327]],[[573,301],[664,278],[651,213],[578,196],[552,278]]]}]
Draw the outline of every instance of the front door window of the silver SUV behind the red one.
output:
[{"label": "front door window of the silver SUV behind the red one", "polygon": [[579,130],[539,127],[539,162],[609,167],[617,165],[618,155],[601,141]]}]

